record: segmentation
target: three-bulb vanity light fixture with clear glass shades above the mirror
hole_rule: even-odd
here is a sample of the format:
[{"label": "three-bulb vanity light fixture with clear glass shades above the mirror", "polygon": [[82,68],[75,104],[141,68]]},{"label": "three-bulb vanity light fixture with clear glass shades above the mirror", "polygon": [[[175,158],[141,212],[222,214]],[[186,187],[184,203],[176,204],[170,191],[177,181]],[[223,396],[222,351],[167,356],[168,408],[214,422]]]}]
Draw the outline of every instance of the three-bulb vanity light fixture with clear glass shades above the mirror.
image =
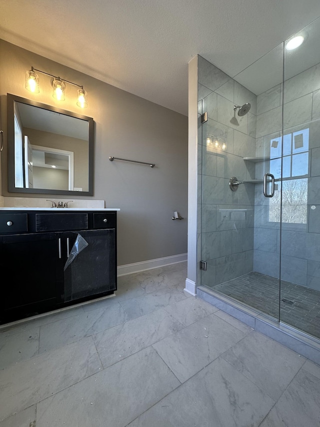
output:
[{"label": "three-bulb vanity light fixture with clear glass shades above the mirror", "polygon": [[31,67],[31,70],[26,71],[25,73],[25,88],[32,93],[39,93],[39,76],[35,73],[45,74],[46,76],[52,77],[52,96],[57,101],[65,100],[65,84],[76,86],[79,89],[77,90],[76,96],[76,105],[80,108],[86,108],[88,106],[87,94],[83,89],[83,86],[77,85],[76,83],[69,82],[67,80],[61,79],[60,77],[53,76],[52,74],[45,73],[44,71],[37,70],[36,68]]}]

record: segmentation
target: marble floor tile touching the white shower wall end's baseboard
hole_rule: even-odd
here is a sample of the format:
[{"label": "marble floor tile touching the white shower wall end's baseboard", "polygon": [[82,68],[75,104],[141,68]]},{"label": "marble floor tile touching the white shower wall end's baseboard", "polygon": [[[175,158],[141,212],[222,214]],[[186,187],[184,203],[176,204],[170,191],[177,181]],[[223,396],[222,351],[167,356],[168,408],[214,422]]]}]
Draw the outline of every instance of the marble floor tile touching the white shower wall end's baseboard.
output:
[{"label": "marble floor tile touching the white shower wall end's baseboard", "polygon": [[186,298],[167,305],[164,309],[182,323],[183,326],[188,326],[218,310],[218,308],[200,298]]}]

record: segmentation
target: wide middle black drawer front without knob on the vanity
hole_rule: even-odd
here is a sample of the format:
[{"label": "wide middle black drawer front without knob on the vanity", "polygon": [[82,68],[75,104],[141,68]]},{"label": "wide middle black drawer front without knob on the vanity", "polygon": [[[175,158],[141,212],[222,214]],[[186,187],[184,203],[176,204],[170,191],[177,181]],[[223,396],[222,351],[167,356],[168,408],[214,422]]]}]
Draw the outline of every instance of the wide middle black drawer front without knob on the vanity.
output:
[{"label": "wide middle black drawer front without knob on the vanity", "polygon": [[88,216],[79,214],[36,214],[35,231],[86,230]]}]

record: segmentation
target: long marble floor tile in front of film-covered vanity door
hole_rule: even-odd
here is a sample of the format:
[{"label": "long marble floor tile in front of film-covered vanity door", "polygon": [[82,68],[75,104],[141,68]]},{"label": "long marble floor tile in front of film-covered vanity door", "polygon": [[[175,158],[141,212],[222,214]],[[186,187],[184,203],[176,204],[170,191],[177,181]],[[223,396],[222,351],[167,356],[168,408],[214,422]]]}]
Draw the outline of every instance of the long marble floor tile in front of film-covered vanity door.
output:
[{"label": "long marble floor tile in front of film-covered vanity door", "polygon": [[118,302],[40,326],[39,353],[62,347],[85,336],[129,320]]}]

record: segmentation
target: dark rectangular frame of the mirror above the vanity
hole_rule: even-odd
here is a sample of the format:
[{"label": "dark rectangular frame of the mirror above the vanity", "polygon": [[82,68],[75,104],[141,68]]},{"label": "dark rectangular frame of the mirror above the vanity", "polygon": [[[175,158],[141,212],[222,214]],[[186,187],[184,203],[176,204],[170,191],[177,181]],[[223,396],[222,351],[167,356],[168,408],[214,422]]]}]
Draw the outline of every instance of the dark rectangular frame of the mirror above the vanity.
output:
[{"label": "dark rectangular frame of the mirror above the vanity", "polygon": [[[44,110],[53,111],[55,113],[64,114],[76,119],[85,120],[89,125],[88,133],[88,170],[89,182],[88,191],[71,191],[71,190],[48,190],[45,188],[18,188],[15,187],[14,179],[14,102],[31,105],[33,107],[42,108]],[[33,194],[61,194],[68,196],[93,196],[93,119],[92,117],[82,116],[70,111],[61,110],[50,105],[41,104],[36,101],[31,101],[26,98],[21,98],[16,95],[7,94],[7,144],[8,144],[8,192],[9,193],[33,193]]]}]

